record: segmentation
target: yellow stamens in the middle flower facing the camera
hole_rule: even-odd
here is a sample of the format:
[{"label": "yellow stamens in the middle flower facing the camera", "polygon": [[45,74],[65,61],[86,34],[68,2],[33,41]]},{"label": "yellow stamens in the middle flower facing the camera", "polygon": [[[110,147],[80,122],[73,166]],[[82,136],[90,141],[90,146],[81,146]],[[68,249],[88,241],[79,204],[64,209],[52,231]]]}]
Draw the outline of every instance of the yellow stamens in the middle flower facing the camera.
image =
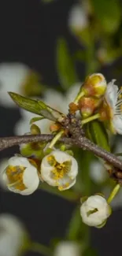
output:
[{"label": "yellow stamens in the middle flower facing the camera", "polygon": [[71,161],[59,163],[54,156],[48,157],[47,161],[54,169],[51,171],[54,180],[62,179],[71,169]]}]

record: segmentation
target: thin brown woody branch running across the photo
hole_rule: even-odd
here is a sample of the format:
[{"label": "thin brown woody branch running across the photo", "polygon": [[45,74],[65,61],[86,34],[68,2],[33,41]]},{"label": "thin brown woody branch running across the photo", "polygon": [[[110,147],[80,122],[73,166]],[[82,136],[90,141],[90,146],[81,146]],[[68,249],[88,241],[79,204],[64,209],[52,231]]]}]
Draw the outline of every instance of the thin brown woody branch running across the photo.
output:
[{"label": "thin brown woody branch running across the photo", "polygon": [[[0,138],[0,150],[4,150],[7,147],[13,147],[15,145],[19,145],[20,143],[41,142],[41,141],[49,142],[53,138],[54,138],[54,135],[46,135],[46,134],[22,135],[22,136]],[[83,148],[83,150],[89,150],[93,152],[96,156],[103,158],[105,161],[108,161],[116,168],[122,170],[122,161],[120,161],[119,158],[116,158],[114,154],[111,154],[108,151],[103,150],[101,147],[98,147],[86,137],[79,136],[78,139],[64,137],[64,138],[61,138],[60,141],[68,145]]]}]

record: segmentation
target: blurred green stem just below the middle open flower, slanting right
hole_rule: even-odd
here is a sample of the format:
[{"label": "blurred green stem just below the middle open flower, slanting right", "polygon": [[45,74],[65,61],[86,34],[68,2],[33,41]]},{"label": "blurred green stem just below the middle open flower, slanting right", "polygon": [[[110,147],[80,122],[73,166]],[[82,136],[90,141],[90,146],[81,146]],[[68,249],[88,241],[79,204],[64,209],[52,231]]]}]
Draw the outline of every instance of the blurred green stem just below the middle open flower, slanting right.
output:
[{"label": "blurred green stem just below the middle open flower, slanting right", "polygon": [[59,191],[56,187],[51,187],[49,185],[47,185],[46,183],[42,183],[39,186],[39,189],[42,189],[43,191],[46,191],[50,194],[54,194],[57,196],[60,196],[61,198],[64,198],[68,201],[77,201],[79,198],[79,195],[76,194],[75,191],[67,190],[67,191]]}]

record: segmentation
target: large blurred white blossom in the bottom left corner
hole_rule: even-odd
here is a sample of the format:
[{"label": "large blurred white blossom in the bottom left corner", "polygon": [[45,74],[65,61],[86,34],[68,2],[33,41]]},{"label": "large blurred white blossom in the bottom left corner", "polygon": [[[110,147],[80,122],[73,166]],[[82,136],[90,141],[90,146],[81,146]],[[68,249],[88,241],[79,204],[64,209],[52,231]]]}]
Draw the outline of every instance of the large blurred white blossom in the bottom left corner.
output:
[{"label": "large blurred white blossom in the bottom left corner", "polygon": [[0,255],[17,256],[24,247],[26,232],[23,224],[8,213],[0,214]]}]

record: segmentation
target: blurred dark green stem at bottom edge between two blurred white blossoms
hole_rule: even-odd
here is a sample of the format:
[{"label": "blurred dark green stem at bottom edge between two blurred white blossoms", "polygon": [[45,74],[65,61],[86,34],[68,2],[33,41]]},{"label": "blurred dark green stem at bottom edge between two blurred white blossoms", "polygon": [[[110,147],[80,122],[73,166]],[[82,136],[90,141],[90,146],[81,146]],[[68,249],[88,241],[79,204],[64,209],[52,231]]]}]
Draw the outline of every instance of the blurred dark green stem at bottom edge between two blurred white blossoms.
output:
[{"label": "blurred dark green stem at bottom edge between two blurred white blossoms", "polygon": [[41,243],[35,243],[35,242],[31,243],[30,246],[28,247],[28,250],[35,251],[35,252],[37,252],[39,254],[43,254],[45,256],[52,255],[51,250]]}]

